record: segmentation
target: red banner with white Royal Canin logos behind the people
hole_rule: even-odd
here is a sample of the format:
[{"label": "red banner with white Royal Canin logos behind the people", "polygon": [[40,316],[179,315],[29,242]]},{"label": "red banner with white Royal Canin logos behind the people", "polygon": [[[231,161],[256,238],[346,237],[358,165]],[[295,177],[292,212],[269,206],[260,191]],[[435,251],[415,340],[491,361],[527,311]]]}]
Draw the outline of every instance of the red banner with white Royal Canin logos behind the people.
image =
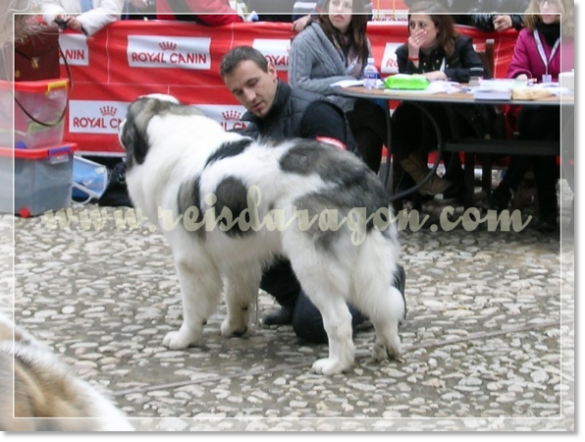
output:
[{"label": "red banner with white Royal Canin logos behind the people", "polygon": [[[516,31],[458,29],[471,36],[478,49],[486,39],[495,40],[496,76],[505,77]],[[194,105],[227,129],[237,127],[245,109],[219,76],[222,56],[235,46],[253,46],[286,80],[293,36],[290,23],[269,22],[206,27],[130,20],[115,22],[89,38],[66,31],[60,43],[73,86],[64,138],[77,143],[82,153],[122,155],[117,130],[128,104],[154,92]],[[405,22],[370,22],[368,36],[382,76],[396,73],[394,52],[406,41]],[[61,70],[67,76],[64,65]]]}]

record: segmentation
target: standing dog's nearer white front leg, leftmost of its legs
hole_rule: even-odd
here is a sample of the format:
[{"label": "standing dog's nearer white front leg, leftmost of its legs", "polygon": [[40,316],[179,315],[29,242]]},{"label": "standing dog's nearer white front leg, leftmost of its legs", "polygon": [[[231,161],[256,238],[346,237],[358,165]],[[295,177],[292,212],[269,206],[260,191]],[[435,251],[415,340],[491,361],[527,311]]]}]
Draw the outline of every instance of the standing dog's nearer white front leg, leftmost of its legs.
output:
[{"label": "standing dog's nearer white front leg, leftmost of its legs", "polygon": [[183,301],[183,324],[179,331],[167,333],[163,345],[183,349],[201,342],[203,325],[217,308],[222,282],[214,265],[199,267],[187,259],[179,259],[175,267]]}]

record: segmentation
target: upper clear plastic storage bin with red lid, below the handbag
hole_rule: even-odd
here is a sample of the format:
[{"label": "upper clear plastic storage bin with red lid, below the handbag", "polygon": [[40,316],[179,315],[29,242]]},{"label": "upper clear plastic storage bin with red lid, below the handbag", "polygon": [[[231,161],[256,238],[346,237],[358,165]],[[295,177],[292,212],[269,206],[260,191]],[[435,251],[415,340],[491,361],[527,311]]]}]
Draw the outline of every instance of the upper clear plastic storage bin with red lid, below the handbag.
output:
[{"label": "upper clear plastic storage bin with red lid, below the handbag", "polygon": [[[2,126],[0,127],[0,146],[34,149],[61,143],[69,95],[69,80],[17,81],[13,84],[14,144],[12,128]],[[3,92],[11,87],[12,83],[0,84]],[[10,119],[3,118],[3,124],[7,124],[6,122],[10,124]]]}]

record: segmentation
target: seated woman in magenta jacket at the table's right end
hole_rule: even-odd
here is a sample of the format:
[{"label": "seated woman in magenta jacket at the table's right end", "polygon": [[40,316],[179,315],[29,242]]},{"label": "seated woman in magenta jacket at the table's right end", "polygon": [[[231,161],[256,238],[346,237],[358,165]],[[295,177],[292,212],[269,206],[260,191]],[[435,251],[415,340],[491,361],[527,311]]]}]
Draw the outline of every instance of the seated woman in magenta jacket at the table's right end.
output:
[{"label": "seated woman in magenta jacket at the table's right end", "polygon": [[[572,32],[572,11],[566,0],[531,0],[524,18],[526,27],[520,32],[508,68],[509,78],[534,79],[538,82],[558,81],[561,71],[561,23],[563,32]],[[570,2],[572,4],[572,1]],[[560,15],[562,14],[562,15]],[[523,106],[518,116],[518,138],[521,140],[558,140],[560,137],[560,107]],[[530,166],[534,168],[538,192],[539,217],[536,228],[543,232],[556,231],[557,190],[559,171],[556,157],[516,155],[502,182],[494,190],[490,208],[508,208],[511,192],[516,191]]]}]

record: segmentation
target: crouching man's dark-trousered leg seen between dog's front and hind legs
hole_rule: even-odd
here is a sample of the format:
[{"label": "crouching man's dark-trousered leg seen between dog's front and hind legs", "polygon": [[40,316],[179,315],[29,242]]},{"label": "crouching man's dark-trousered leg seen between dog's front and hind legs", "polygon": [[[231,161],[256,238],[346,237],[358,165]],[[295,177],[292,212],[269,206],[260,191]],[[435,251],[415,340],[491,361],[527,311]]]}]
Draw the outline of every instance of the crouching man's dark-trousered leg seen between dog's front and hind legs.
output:
[{"label": "crouching man's dark-trousered leg seen between dog's front and hind legs", "polygon": [[265,315],[262,323],[264,325],[290,324],[295,303],[301,291],[301,285],[292,270],[290,261],[279,259],[265,270],[260,288],[272,295],[282,306],[280,310]]}]

